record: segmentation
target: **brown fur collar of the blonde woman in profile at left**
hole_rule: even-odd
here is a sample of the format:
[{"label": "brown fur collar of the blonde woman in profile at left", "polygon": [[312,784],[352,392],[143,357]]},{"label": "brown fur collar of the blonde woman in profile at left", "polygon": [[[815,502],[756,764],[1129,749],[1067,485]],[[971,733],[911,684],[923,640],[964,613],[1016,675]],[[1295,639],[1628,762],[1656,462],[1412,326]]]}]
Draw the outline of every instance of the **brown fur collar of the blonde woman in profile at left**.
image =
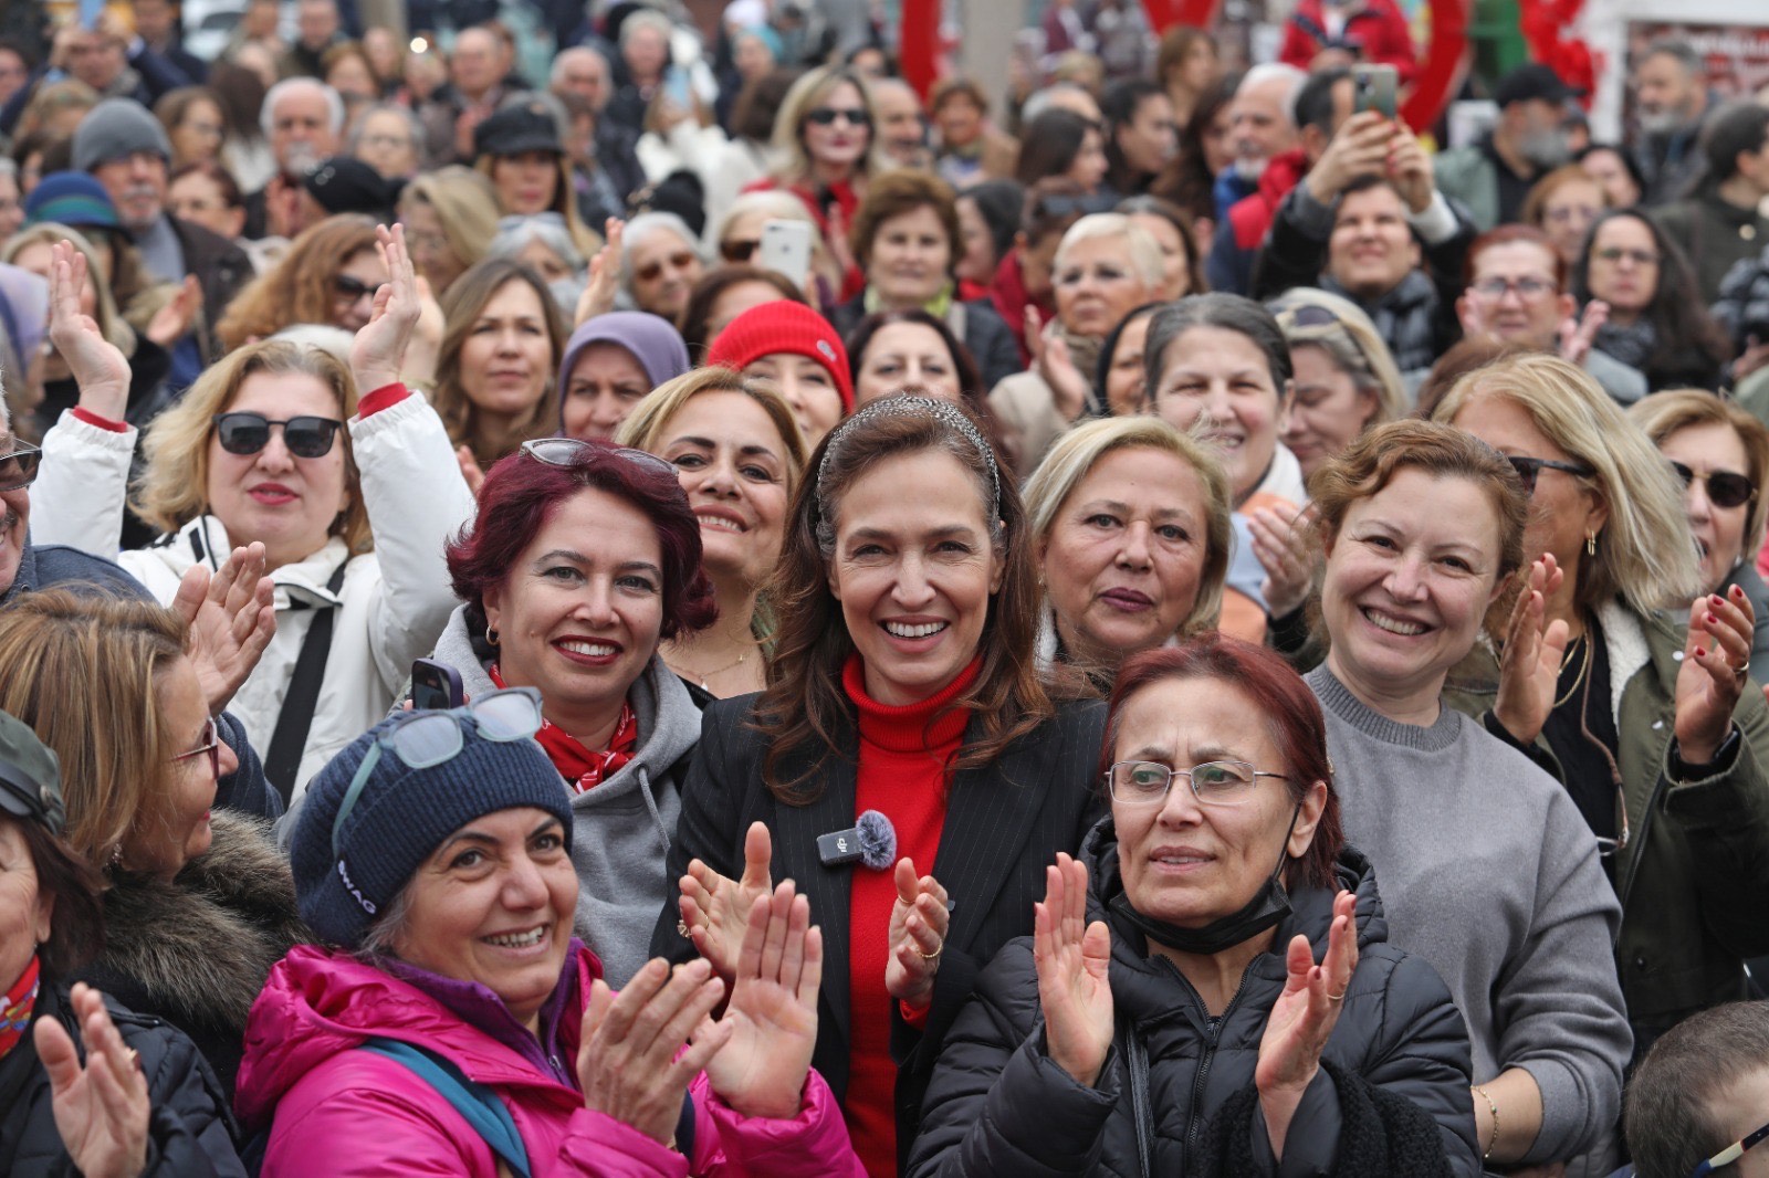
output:
[{"label": "brown fur collar of the blonde woman in profile at left", "polygon": [[172,883],[113,876],[90,973],[149,996],[147,1010],[177,1026],[244,1029],[271,966],[311,936],[269,824],[225,810],[211,821],[214,845]]}]

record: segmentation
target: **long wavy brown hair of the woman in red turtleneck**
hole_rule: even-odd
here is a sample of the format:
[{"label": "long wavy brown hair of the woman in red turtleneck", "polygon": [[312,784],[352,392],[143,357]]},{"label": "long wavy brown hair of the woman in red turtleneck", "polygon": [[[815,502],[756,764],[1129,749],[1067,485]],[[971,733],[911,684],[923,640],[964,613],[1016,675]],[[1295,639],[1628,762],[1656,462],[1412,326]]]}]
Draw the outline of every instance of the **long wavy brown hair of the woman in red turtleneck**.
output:
[{"label": "long wavy brown hair of the woman in red turtleneck", "polygon": [[[962,409],[959,412],[964,412]],[[971,423],[982,435],[982,425]],[[984,455],[950,423],[925,412],[876,414],[831,430],[805,465],[807,478],[793,497],[785,543],[768,587],[778,610],[768,688],[755,704],[754,727],[768,741],[762,782],[787,805],[808,805],[823,792],[819,780],[830,757],[854,757],[854,708],[842,688],[842,667],[854,653],[842,605],[830,593],[835,557],[835,520],[842,497],[879,463],[939,451],[971,474],[987,504],[991,474]],[[998,469],[999,458],[996,460]],[[1033,642],[1038,631],[1038,573],[1031,559],[1026,509],[1010,478],[1001,479],[994,552],[1001,559],[1001,589],[989,601],[976,642],[982,670],[953,709],[976,713],[982,734],[959,752],[955,768],[996,761],[1010,743],[1053,715],[1051,695],[1038,677]],[[796,778],[785,778],[794,753],[812,752]]]}]

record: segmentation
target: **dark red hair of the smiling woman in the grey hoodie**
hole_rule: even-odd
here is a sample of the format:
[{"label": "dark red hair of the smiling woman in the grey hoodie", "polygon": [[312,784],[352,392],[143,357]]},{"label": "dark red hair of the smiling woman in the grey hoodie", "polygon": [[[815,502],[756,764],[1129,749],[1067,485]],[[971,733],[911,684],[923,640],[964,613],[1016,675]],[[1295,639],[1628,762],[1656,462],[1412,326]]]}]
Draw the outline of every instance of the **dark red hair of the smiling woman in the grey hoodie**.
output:
[{"label": "dark red hair of the smiling woman in the grey hoodie", "polygon": [[619,458],[612,442],[591,449],[568,467],[555,467],[517,451],[492,467],[479,488],[479,515],[448,545],[448,573],[455,594],[474,621],[485,614],[485,591],[502,584],[522,550],[540,534],[566,499],[600,490],[630,502],[658,532],[663,552],[663,631],[704,630],[718,617],[713,582],[701,568],[701,522],[674,474]]}]

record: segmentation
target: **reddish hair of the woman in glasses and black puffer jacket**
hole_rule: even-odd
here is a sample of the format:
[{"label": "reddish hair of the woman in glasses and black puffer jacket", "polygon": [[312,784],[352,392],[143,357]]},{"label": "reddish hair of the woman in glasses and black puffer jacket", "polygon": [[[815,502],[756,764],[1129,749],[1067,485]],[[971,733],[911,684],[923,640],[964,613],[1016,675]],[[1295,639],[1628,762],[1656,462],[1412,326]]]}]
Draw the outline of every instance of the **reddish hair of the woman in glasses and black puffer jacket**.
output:
[{"label": "reddish hair of the woman in glasses and black puffer jacket", "polygon": [[1219,679],[1249,700],[1256,700],[1272,743],[1277,745],[1290,771],[1291,801],[1300,803],[1314,782],[1327,782],[1327,807],[1314,828],[1314,842],[1290,867],[1286,881],[1291,888],[1298,883],[1332,888],[1334,863],[1344,849],[1344,828],[1339,824],[1339,792],[1334,789],[1332,761],[1327,757],[1327,720],[1309,685],[1283,656],[1263,646],[1208,630],[1183,646],[1141,651],[1123,660],[1118,681],[1113,685],[1111,709],[1106,713],[1106,743],[1100,748],[1097,780],[1106,778],[1106,769],[1116,755],[1123,706],[1143,688],[1171,679]]}]

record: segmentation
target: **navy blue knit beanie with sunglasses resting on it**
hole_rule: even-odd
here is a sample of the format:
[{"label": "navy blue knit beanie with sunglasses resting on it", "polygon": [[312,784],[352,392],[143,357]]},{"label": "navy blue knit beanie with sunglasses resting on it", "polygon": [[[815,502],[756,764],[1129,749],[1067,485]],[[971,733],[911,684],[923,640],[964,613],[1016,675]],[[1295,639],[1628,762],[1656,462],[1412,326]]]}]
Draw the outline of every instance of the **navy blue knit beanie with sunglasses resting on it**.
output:
[{"label": "navy blue knit beanie with sunglasses resting on it", "polygon": [[295,899],[308,927],[334,945],[361,946],[368,927],[442,840],[486,814],[517,807],[545,810],[564,826],[566,849],[571,845],[571,794],[541,746],[532,738],[485,739],[472,713],[456,708],[440,715],[462,725],[460,753],[414,769],[398,752],[382,748],[338,831],[340,854],[334,856],[333,822],[368,750],[384,732],[433,715],[439,713],[398,713],[382,720],[308,784],[290,847]]}]

